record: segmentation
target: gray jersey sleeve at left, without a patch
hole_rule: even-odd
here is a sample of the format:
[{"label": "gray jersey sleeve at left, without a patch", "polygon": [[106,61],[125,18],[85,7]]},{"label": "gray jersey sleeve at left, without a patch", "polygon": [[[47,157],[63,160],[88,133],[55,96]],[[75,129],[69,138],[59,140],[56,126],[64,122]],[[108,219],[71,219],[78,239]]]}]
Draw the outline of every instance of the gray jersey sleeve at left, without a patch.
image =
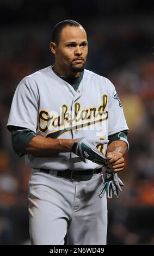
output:
[{"label": "gray jersey sleeve at left, without a patch", "polygon": [[7,128],[25,127],[36,132],[38,125],[39,95],[34,83],[19,83],[11,104]]}]

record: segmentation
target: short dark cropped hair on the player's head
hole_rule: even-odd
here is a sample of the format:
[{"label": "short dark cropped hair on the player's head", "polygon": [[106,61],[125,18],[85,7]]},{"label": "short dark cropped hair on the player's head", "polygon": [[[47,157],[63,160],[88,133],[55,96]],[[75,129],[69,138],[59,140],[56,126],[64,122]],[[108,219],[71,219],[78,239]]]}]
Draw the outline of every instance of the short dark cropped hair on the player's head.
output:
[{"label": "short dark cropped hair on the player's head", "polygon": [[73,20],[60,21],[54,26],[52,31],[52,41],[55,42],[57,45],[59,44],[60,33],[62,29],[66,26],[83,28],[83,26],[79,24],[77,21],[73,21]]}]

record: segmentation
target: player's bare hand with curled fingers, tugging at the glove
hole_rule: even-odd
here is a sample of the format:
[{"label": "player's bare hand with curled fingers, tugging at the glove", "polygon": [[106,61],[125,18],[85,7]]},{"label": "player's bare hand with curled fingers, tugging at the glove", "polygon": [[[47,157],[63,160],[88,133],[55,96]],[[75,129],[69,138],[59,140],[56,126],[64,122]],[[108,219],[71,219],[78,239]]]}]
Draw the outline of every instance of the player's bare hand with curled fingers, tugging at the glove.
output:
[{"label": "player's bare hand with curled fingers, tugging at the glove", "polygon": [[113,151],[106,154],[109,167],[114,172],[121,172],[125,166],[125,160],[121,153]]}]

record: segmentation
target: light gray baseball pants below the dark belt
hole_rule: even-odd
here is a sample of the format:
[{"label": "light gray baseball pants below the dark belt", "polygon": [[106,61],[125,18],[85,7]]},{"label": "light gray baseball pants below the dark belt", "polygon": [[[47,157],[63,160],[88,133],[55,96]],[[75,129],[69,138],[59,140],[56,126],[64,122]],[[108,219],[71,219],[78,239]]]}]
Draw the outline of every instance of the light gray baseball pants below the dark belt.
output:
[{"label": "light gray baseball pants below the dark belt", "polygon": [[101,173],[88,181],[32,169],[29,181],[29,233],[32,245],[106,245],[107,199],[98,191]]}]

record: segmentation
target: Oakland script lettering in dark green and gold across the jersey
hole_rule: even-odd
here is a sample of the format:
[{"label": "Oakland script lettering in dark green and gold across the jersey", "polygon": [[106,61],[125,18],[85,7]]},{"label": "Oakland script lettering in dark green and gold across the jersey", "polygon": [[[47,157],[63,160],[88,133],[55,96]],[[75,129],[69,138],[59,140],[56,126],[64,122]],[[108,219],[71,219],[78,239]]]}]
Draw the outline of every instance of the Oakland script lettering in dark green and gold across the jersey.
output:
[{"label": "Oakland script lettering in dark green and gold across the jersey", "polygon": [[59,132],[61,134],[66,131],[101,123],[108,118],[108,112],[106,111],[107,95],[102,95],[101,99],[102,104],[100,106],[88,109],[81,109],[81,103],[76,102],[74,104],[74,111],[69,111],[67,105],[64,104],[60,108],[60,115],[41,109],[38,115],[38,130],[45,133],[48,130],[56,129],[56,131],[52,131],[52,136],[47,135],[47,137],[53,138],[57,137],[56,134],[59,135]]}]

